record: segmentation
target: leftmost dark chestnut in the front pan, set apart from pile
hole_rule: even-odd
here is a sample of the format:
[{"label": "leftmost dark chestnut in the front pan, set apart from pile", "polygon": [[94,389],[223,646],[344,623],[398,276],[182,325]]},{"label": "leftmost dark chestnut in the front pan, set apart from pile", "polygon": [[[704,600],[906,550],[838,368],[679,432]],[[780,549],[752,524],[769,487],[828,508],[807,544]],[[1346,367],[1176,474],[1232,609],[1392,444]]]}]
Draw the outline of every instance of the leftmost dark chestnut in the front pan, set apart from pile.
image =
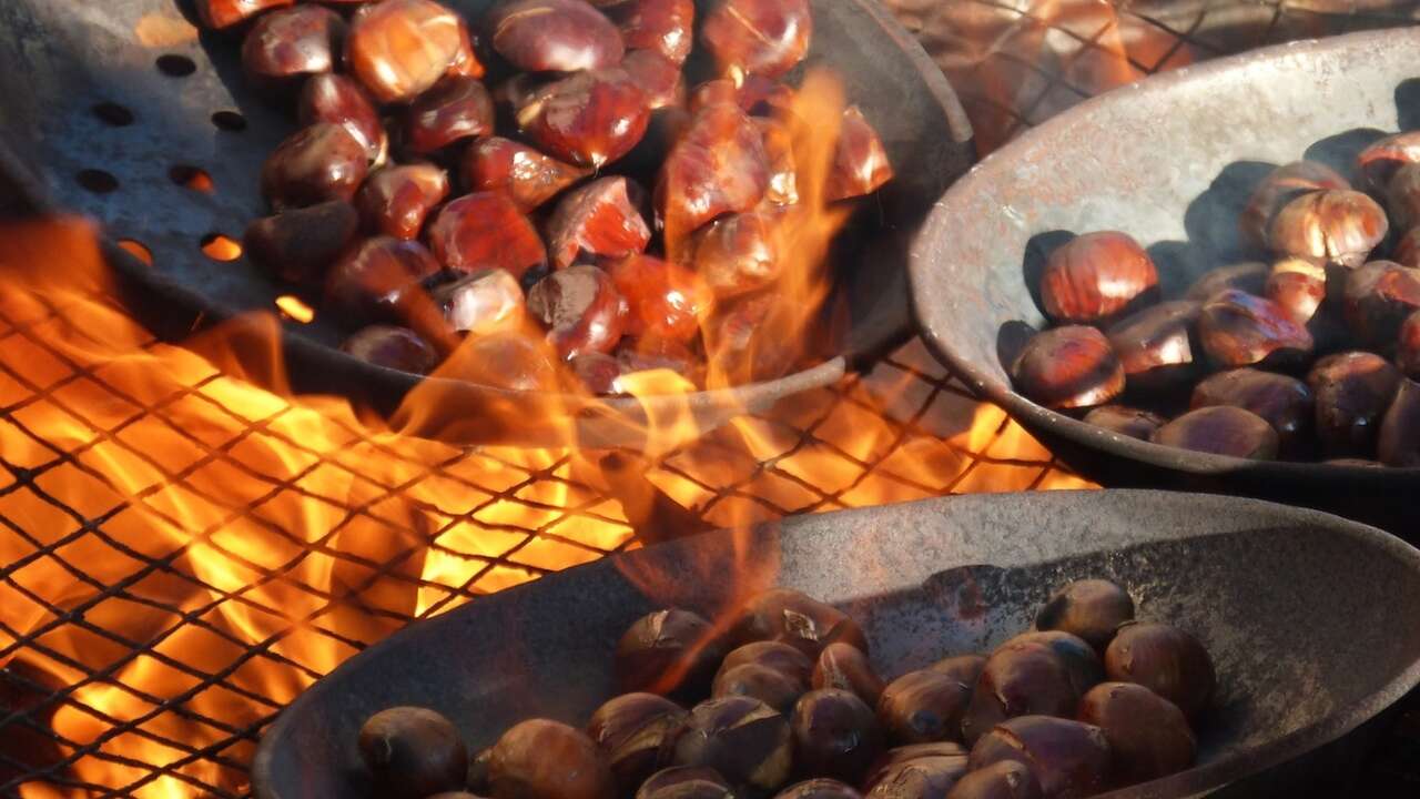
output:
[{"label": "leftmost dark chestnut in the front pan, set apart from pile", "polygon": [[359,754],[376,789],[392,799],[425,799],[457,790],[469,769],[459,729],[427,708],[398,707],[369,717]]}]

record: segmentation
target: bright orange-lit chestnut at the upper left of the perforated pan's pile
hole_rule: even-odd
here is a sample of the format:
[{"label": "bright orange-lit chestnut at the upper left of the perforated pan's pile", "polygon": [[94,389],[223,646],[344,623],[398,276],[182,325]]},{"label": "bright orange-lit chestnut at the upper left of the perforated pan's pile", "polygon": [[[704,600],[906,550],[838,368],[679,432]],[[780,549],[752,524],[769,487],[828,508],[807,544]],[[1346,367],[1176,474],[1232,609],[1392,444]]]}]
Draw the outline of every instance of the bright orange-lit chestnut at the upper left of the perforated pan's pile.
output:
[{"label": "bright orange-lit chestnut at the upper left of the perforated pan's pile", "polygon": [[433,0],[383,0],[351,20],[345,64],[379,102],[409,102],[464,55],[469,33]]}]

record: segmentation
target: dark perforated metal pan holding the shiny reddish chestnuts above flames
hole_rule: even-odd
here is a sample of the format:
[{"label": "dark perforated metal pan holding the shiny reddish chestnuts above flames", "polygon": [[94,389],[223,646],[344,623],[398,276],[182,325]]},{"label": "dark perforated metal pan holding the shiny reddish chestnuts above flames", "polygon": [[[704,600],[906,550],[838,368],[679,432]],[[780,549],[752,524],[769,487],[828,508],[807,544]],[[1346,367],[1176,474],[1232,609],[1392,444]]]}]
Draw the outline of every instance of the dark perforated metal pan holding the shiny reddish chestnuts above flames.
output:
[{"label": "dark perforated metal pan holding the shiny reddish chestnuts above flames", "polygon": [[[446,0],[477,20],[493,0]],[[805,371],[755,385],[692,395],[701,428],[838,380],[855,358],[880,351],[912,328],[906,247],[932,203],[973,162],[971,128],[941,71],[876,0],[814,0],[815,37],[807,64],[842,77],[883,136],[897,179],[865,203],[845,245],[839,290],[849,331],[831,357]],[[148,267],[118,247],[111,260],[145,321],[179,337],[193,321],[273,310],[290,289],[244,259],[217,262],[206,236],[240,237],[266,213],[256,175],[294,122],[241,80],[240,37],[203,33],[187,0],[108,0],[0,4],[0,188],[21,192],[30,210],[72,209],[104,222],[112,237],[135,239]],[[131,112],[104,112],[116,104]],[[178,169],[175,172],[175,168]],[[183,188],[197,168],[214,192]],[[94,179],[94,171],[108,175]],[[108,182],[112,179],[112,182]],[[101,189],[95,192],[94,189]],[[13,196],[0,210],[14,210]],[[420,378],[371,367],[337,348],[344,331],[317,316],[284,326],[293,387],[338,392],[389,411]],[[459,442],[565,444],[568,417],[586,445],[635,446],[648,417],[683,398],[591,401],[528,395],[444,381],[444,418],[429,429]],[[510,411],[515,409],[515,412]],[[515,422],[510,424],[510,419]]]}]

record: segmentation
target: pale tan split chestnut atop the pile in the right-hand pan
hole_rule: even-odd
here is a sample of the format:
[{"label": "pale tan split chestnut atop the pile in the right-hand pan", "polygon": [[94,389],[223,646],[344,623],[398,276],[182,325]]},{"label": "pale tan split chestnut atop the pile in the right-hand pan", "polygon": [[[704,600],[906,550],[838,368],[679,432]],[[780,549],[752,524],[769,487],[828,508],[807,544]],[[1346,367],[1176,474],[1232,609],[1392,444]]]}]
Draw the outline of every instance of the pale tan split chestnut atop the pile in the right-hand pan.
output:
[{"label": "pale tan split chestnut atop the pile in the right-hand pan", "polygon": [[1389,229],[1386,212],[1376,200],[1362,192],[1333,189],[1311,192],[1282,206],[1267,240],[1279,256],[1356,269]]}]

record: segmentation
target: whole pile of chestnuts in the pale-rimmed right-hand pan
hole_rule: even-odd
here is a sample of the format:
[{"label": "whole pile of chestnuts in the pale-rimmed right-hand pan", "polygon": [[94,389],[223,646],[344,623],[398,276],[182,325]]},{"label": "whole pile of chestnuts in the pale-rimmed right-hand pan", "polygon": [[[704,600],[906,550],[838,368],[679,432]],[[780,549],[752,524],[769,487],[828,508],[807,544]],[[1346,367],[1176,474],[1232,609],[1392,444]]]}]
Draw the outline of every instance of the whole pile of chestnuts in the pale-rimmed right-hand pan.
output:
[{"label": "whole pile of chestnuts in the pale-rimmed right-hand pan", "polygon": [[1017,390],[1169,446],[1420,466],[1420,131],[1367,146],[1355,179],[1272,171],[1241,216],[1272,260],[1174,301],[1150,304],[1154,263],[1125,233],[1061,246],[1039,284],[1056,327],[1015,358]]}]

